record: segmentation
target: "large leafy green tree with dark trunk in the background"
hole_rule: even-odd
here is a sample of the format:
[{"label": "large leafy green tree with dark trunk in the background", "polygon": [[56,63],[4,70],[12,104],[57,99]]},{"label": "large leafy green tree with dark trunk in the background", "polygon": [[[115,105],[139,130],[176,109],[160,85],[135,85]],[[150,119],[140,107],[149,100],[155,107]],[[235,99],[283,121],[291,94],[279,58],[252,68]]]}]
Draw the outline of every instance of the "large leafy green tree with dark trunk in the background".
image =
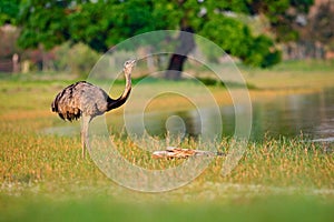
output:
[{"label": "large leafy green tree with dark trunk in the background", "polygon": [[[97,51],[132,36],[153,30],[179,29],[202,34],[246,64],[271,67],[281,60],[281,52],[266,36],[254,36],[233,13],[265,14],[277,33],[286,33],[285,16],[291,9],[308,9],[313,0],[99,0],[99,1],[23,1],[19,24],[23,48],[43,44],[50,49],[71,40],[84,42]],[[230,13],[233,12],[233,13]],[[289,17],[286,17],[289,18]],[[282,31],[283,30],[283,31]],[[279,34],[277,34],[279,36]],[[281,37],[281,36],[279,36]],[[193,39],[179,37],[180,44],[169,61],[168,70],[181,71]],[[184,56],[179,56],[179,52]],[[174,72],[180,73],[180,72]],[[179,74],[166,72],[178,79]]]}]

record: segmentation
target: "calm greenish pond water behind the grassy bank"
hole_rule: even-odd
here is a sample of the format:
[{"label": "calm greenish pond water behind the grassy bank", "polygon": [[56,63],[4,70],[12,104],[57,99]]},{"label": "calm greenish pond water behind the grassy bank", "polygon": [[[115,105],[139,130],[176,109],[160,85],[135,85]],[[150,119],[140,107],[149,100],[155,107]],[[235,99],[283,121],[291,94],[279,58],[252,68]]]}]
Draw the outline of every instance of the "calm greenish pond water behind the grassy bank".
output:
[{"label": "calm greenish pond water behind the grassy bank", "polygon": [[[223,134],[234,135],[234,107],[222,107],[220,113]],[[146,113],[145,128],[151,135],[166,134],[167,128],[173,132],[185,129],[186,134],[196,137],[200,133],[202,119],[196,110]],[[293,138],[302,133],[314,141],[334,141],[334,89],[282,95],[271,101],[253,103],[252,140],[262,140],[265,135]]]}]

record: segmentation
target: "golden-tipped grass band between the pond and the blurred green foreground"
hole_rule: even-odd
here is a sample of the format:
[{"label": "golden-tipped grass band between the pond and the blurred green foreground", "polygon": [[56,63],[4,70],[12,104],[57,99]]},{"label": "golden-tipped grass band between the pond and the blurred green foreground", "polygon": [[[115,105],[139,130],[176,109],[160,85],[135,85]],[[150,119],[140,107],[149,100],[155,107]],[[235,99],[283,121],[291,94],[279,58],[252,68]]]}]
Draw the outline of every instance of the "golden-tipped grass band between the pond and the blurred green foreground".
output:
[{"label": "golden-tipped grass band between the pond and the blurred green foreground", "polygon": [[[57,137],[38,132],[48,122],[40,120],[1,122],[2,184],[30,184],[71,180],[107,180],[91,160],[80,158],[79,137]],[[183,160],[157,160],[138,147],[130,138],[112,137],[120,154],[132,164],[146,169],[166,169],[181,164]],[[228,152],[233,139],[217,144]],[[197,149],[195,141],[183,148]],[[159,149],[159,148],[158,148]],[[249,143],[239,164],[227,176],[222,176],[226,157],[217,157],[195,182],[240,183],[268,186],[334,189],[334,154],[326,147],[303,138],[265,139]]]}]

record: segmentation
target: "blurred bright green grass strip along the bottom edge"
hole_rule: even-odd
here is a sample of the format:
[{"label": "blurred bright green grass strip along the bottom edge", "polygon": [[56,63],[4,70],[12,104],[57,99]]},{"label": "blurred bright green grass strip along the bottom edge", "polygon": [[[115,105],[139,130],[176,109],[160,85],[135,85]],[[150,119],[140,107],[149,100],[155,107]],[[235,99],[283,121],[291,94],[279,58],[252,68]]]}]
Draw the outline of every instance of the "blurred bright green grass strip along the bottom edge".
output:
[{"label": "blurred bright green grass strip along the bottom edge", "polygon": [[[156,203],[115,201],[90,198],[55,202],[3,200],[9,208],[1,215],[3,221],[332,221],[333,204],[313,198],[273,196],[256,199],[250,203],[217,204]],[[24,208],[22,208],[24,203]],[[301,216],[302,215],[302,216]],[[0,219],[1,220],[1,219]]]}]

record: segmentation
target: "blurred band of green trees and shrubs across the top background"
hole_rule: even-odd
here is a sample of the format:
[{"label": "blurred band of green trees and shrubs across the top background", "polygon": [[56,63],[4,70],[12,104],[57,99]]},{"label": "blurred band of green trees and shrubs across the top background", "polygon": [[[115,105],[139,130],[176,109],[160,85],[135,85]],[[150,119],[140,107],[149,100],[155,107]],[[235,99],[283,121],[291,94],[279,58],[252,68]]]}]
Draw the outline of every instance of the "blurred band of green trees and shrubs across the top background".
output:
[{"label": "blurred band of green trees and shrubs across the top background", "polygon": [[[86,77],[114,46],[154,30],[200,34],[248,67],[330,61],[334,58],[333,14],[331,0],[2,0],[0,72]],[[194,39],[178,38],[176,52],[196,50]],[[151,46],[138,50],[154,51]],[[224,54],[203,51],[212,62],[224,61]],[[183,70],[185,61],[173,54],[163,65]],[[180,75],[166,73],[166,78]]]}]

